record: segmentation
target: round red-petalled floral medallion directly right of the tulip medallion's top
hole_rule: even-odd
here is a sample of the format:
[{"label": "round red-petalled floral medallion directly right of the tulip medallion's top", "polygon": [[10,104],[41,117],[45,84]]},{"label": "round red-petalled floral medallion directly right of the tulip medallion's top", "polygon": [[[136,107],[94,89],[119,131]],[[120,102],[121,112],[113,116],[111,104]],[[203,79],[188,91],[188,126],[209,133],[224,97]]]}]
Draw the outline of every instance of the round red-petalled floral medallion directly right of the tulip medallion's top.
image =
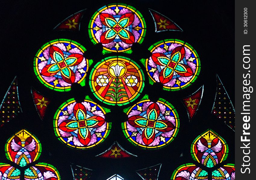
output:
[{"label": "round red-petalled floral medallion directly right of the tulip medallion's top", "polygon": [[[144,62],[150,83],[160,82],[166,90],[176,91],[188,87],[200,73],[197,52],[177,39],[159,41],[149,48],[152,55]],[[151,81],[152,80],[152,81]]]}]

